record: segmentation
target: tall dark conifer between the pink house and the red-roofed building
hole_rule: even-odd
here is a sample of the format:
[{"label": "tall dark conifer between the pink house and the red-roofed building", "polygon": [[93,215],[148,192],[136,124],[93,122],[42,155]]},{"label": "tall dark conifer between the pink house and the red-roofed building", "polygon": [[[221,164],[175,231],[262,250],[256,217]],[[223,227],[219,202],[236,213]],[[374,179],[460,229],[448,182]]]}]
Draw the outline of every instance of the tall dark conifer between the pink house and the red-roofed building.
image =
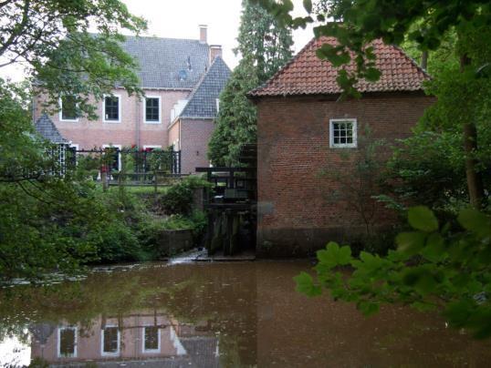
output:
[{"label": "tall dark conifer between the pink house and the red-roofed building", "polygon": [[249,0],[243,12],[235,54],[242,58],[220,97],[220,112],[209,144],[214,165],[236,164],[240,147],[256,142],[256,107],[246,93],[272,77],[292,56],[291,31]]}]

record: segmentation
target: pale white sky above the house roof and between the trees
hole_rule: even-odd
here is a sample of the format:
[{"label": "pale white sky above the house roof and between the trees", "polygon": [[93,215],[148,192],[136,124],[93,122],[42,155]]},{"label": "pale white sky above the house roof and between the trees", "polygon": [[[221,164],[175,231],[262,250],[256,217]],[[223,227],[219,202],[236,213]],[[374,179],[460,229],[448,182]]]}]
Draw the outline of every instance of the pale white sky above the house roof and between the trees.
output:
[{"label": "pale white sky above the house roof and between the trees", "polygon": [[[223,47],[224,60],[234,68],[238,59],[233,53],[237,46],[241,15],[241,0],[122,0],[134,15],[148,21],[148,31],[142,36],[199,39],[199,25],[208,26],[208,44]],[[293,15],[305,15],[302,0],[293,0]],[[294,51],[297,53],[312,38],[312,28],[294,31]],[[23,78],[19,66],[0,68],[0,77],[14,81]]]}]

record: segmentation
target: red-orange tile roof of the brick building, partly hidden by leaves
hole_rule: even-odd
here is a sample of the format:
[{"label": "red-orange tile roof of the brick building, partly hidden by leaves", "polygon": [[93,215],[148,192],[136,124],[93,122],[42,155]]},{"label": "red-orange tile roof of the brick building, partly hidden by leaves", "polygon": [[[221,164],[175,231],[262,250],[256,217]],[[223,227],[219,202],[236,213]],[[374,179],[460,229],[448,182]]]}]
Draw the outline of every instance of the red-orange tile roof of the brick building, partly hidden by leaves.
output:
[{"label": "red-orange tile roof of the brick building, partly hidden by leaves", "polygon": [[[336,82],[339,68],[316,55],[316,50],[325,43],[336,45],[336,39],[312,39],[275,76],[263,86],[250,91],[249,96],[339,94],[341,90]],[[381,77],[375,83],[360,80],[356,85],[360,92],[416,91],[421,90],[423,81],[430,78],[399,47],[385,45],[381,40],[375,40],[371,45],[377,56],[376,66],[381,71]],[[346,68],[352,71],[355,65],[351,62]]]}]

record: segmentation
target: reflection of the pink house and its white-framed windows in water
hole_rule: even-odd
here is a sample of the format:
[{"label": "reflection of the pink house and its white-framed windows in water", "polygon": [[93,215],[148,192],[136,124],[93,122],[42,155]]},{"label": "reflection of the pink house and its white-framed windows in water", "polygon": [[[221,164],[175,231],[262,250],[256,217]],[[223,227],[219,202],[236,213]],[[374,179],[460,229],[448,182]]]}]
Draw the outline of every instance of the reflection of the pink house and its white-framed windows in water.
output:
[{"label": "reflection of the pink house and its white-framed windows in water", "polygon": [[219,366],[218,339],[206,322],[182,324],[157,312],[99,316],[83,324],[41,323],[30,331],[32,359],[55,365],[124,361],[126,366]]}]

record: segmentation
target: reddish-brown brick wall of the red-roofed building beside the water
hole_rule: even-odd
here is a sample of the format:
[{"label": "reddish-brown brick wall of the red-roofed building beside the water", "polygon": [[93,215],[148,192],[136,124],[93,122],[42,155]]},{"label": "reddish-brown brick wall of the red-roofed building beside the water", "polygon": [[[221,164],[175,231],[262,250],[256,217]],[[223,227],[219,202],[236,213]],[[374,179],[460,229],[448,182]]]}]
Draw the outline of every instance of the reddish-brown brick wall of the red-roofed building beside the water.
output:
[{"label": "reddish-brown brick wall of the red-roofed building beside the water", "polygon": [[329,148],[330,118],[357,118],[359,136],[368,124],[372,138],[389,144],[408,137],[432,101],[420,94],[341,102],[328,97],[259,99],[258,254],[305,255],[329,240],[350,240],[362,233],[360,216],[346,203],[329,199],[336,188],[319,175],[323,169],[330,173],[350,169],[342,152],[356,152],[356,148]]}]

